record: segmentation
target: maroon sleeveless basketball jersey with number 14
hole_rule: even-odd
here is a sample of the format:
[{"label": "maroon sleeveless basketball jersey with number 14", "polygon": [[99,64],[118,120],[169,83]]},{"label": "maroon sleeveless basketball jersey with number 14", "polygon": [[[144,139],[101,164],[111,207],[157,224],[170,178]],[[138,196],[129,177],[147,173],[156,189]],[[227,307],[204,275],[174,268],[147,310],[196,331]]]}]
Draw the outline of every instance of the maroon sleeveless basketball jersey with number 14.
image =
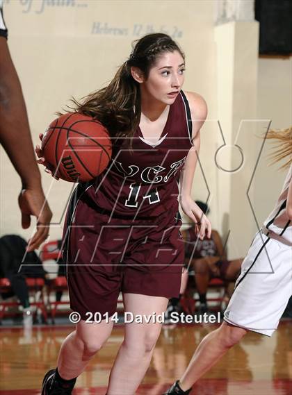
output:
[{"label": "maroon sleeveless basketball jersey with number 14", "polygon": [[147,142],[140,128],[133,148],[124,139],[113,146],[108,168],[95,179],[87,194],[97,208],[113,217],[143,219],[178,211],[178,181],[190,150],[192,124],[184,92],[168,113],[159,141]]}]

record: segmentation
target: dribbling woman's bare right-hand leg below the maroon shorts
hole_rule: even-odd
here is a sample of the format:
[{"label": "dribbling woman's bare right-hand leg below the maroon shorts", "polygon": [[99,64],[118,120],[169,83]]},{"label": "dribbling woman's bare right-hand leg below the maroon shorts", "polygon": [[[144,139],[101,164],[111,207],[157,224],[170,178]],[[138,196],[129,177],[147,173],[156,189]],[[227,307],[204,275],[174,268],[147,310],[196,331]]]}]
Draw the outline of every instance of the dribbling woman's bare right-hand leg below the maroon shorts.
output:
[{"label": "dribbling woman's bare right-hand leg below the maroon shorts", "polygon": [[[157,317],[168,305],[161,296],[124,294],[124,310]],[[154,346],[161,332],[161,323],[126,323],[124,342],[115,358],[108,383],[108,395],[133,395],[149,367]]]}]

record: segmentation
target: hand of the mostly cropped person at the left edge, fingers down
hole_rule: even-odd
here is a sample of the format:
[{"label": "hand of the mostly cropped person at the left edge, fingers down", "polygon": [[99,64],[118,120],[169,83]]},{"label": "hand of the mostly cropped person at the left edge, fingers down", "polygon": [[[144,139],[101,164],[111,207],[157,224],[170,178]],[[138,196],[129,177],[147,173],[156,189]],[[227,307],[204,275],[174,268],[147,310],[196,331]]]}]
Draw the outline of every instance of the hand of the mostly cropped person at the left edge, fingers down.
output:
[{"label": "hand of the mostly cropped person at the left edge, fingers down", "polygon": [[18,204],[22,212],[22,228],[31,226],[31,215],[37,218],[37,230],[26,247],[26,251],[33,251],[47,239],[52,213],[41,187],[22,190],[18,196]]}]

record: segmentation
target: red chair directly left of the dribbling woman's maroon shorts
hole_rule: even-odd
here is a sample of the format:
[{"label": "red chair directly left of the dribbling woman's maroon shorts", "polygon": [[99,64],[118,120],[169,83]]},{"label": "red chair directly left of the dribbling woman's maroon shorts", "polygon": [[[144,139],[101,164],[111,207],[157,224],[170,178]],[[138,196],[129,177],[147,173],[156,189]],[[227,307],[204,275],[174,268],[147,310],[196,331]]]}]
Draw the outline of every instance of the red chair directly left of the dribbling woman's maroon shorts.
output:
[{"label": "red chair directly left of the dribbling woman's maroon shorts", "polygon": [[[42,252],[40,253],[42,262],[46,260],[56,260],[57,262],[58,260],[60,260],[61,256],[62,251],[60,250],[60,242],[58,240],[54,240],[52,242],[47,242],[46,244],[44,244],[44,246],[42,247]],[[51,294],[54,293],[56,295],[61,295],[63,294],[63,292],[67,291],[67,279],[65,276],[57,276],[56,278],[52,278],[51,280],[49,280],[49,285],[47,287],[47,301],[49,305],[51,320],[53,323],[55,321],[58,305],[70,305],[70,302],[58,300],[57,297],[56,300],[52,300]]]}]

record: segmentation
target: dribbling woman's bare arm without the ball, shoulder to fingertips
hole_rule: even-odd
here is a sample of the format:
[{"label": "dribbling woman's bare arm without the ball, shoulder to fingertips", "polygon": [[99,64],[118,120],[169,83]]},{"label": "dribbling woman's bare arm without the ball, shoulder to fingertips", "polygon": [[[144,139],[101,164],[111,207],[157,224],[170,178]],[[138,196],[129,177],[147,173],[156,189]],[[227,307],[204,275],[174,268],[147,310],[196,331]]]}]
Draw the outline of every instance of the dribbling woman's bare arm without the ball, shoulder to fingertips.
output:
[{"label": "dribbling woman's bare arm without the ball, shoulder to fingertips", "polygon": [[211,237],[211,223],[209,219],[207,219],[206,215],[204,215],[202,210],[193,201],[191,196],[191,188],[193,184],[195,168],[197,165],[197,156],[200,152],[200,129],[204,125],[204,121],[206,119],[207,106],[200,94],[186,92],[186,96],[190,104],[190,115],[193,121],[193,147],[188,152],[184,170],[181,173],[181,190],[179,201],[184,213],[190,219],[192,219],[193,222],[195,222],[196,233],[199,233],[198,230],[200,228],[200,239],[203,239],[205,234],[208,237]]}]

